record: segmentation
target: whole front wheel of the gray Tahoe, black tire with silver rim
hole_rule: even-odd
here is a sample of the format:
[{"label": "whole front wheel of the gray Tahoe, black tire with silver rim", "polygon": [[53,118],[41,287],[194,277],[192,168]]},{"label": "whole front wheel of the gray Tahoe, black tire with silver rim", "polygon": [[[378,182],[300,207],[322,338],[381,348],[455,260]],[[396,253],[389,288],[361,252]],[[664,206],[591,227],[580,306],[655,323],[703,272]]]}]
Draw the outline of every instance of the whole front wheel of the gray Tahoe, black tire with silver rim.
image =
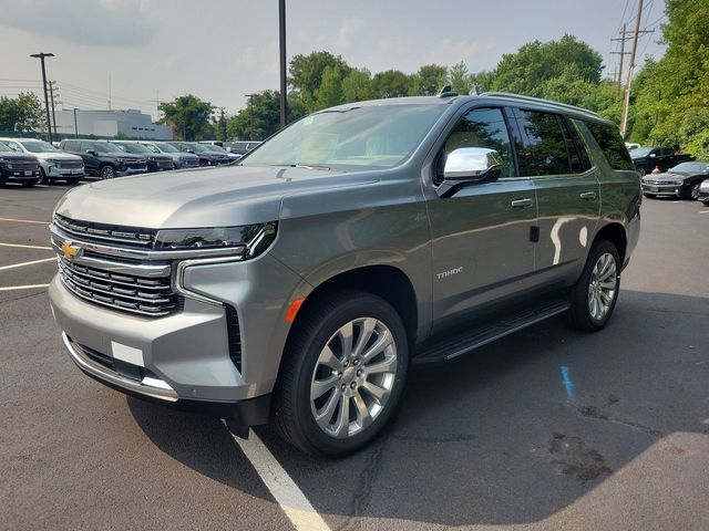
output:
[{"label": "whole front wheel of the gray Tahoe, black tire with silver rim", "polygon": [[341,291],[304,309],[284,354],[275,426],[311,455],[343,456],[392,416],[409,361],[397,311],[370,293]]}]

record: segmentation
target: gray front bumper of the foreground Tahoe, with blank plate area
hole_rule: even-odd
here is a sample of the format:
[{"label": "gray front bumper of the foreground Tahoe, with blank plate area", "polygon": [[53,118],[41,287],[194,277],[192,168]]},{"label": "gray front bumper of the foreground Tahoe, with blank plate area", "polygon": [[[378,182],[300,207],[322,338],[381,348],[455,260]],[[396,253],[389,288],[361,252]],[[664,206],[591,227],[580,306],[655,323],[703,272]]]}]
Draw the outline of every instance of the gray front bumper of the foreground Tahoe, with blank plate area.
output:
[{"label": "gray front bumper of the foreground Tahoe, with blank plate area", "polygon": [[[176,275],[183,308],[160,319],[84,301],[55,275],[50,303],[72,360],[125,394],[242,425],[266,423],[289,330],[285,298],[301,279],[268,256],[248,262],[181,262],[174,282]],[[227,305],[236,310],[240,329],[238,368],[229,350],[235,314]]]}]

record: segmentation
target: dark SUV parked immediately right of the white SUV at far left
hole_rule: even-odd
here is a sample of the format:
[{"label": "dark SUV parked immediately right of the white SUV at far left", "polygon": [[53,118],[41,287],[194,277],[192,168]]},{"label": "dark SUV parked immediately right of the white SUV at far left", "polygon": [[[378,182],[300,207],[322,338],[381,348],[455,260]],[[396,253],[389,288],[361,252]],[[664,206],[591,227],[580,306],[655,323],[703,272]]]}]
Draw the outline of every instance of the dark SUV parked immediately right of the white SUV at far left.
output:
[{"label": "dark SUV parked immediately right of the white SUV at far left", "polygon": [[141,155],[125,153],[114,144],[104,140],[66,139],[60,148],[79,155],[86,168],[86,174],[101,179],[112,179],[123,175],[144,174],[147,160]]}]

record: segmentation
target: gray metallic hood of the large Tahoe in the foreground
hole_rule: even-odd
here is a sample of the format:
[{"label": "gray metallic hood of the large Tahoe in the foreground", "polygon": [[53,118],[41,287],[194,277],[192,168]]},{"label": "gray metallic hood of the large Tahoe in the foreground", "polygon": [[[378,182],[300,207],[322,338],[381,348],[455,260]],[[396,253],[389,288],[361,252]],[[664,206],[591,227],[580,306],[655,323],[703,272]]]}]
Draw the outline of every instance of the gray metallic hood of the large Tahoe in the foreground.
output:
[{"label": "gray metallic hood of the large Tahoe in the foreground", "polygon": [[284,196],[371,183],[371,171],[225,166],[120,177],[69,191],[56,212],[72,219],[145,227],[229,227],[279,219]]}]

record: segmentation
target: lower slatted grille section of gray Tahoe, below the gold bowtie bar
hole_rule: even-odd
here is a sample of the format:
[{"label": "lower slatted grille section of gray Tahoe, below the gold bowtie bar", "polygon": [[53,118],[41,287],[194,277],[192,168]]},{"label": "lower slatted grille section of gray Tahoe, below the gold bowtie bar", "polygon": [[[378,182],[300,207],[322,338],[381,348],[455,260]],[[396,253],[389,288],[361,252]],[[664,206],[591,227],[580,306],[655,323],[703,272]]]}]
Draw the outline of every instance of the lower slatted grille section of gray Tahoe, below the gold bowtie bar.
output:
[{"label": "lower slatted grille section of gray Tahoe, below the gold bowtie bar", "polygon": [[59,260],[60,278],[66,289],[86,301],[137,315],[157,317],[179,309],[169,277],[144,278]]}]

